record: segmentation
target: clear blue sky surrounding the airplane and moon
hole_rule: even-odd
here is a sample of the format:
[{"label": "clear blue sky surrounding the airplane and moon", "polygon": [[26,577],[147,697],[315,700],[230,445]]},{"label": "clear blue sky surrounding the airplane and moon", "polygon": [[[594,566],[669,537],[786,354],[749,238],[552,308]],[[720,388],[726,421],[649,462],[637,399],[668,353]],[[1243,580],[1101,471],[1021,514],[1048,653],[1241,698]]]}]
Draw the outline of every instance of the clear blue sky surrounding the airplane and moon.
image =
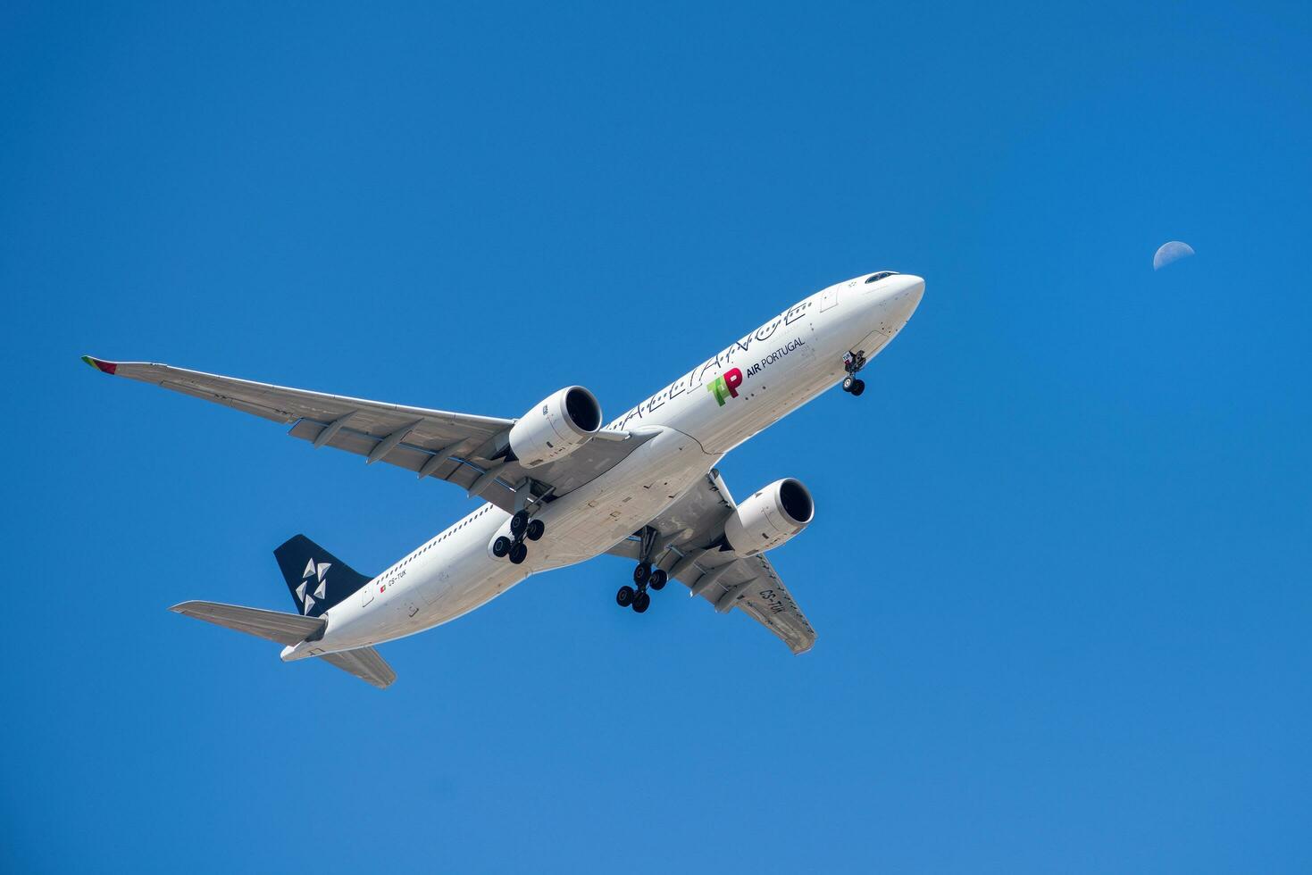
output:
[{"label": "clear blue sky surrounding the airplane and moon", "polygon": [[[1308,7],[471,5],[0,12],[0,868],[1312,867]],[[471,504],[77,361],[619,412],[875,269],[722,464],[816,496],[798,659],[604,558],[282,665],[164,609]]]}]

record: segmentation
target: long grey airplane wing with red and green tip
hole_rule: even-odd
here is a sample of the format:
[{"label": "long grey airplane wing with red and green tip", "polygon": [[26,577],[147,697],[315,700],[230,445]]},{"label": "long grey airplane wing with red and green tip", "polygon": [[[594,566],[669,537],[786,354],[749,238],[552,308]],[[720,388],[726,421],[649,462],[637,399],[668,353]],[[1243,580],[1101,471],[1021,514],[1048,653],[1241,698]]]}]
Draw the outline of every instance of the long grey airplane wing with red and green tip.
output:
[{"label": "long grey airplane wing with red and green tip", "polygon": [[[447,480],[509,512],[516,509],[516,488],[526,478],[517,462],[496,458],[504,455],[514,420],[311,392],[171,365],[108,362],[91,356],[83,361],[105,374],[290,424],[291,437],[316,447],[331,446],[370,463],[408,468],[420,479]],[[592,439],[556,462],[535,467],[533,480],[555,496],[565,495],[613,468],[649,437]]]}]

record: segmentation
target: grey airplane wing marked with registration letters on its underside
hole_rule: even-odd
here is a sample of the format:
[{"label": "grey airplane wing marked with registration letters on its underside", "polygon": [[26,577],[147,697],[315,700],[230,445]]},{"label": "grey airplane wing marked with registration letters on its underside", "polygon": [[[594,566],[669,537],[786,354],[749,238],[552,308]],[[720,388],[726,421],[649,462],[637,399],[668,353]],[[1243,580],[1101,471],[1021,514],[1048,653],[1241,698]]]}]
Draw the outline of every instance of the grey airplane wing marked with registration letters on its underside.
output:
[{"label": "grey airplane wing marked with registration letters on its underside", "polygon": [[[664,544],[653,556],[672,579],[689,588],[690,596],[701,596],[722,614],[737,607],[790,651],[806,653],[815,645],[816,632],[765,554],[739,556],[711,546],[724,534],[724,519],[736,506],[720,472],[712,470],[648,523]],[[636,561],[640,543],[634,535],[607,552]]]}]

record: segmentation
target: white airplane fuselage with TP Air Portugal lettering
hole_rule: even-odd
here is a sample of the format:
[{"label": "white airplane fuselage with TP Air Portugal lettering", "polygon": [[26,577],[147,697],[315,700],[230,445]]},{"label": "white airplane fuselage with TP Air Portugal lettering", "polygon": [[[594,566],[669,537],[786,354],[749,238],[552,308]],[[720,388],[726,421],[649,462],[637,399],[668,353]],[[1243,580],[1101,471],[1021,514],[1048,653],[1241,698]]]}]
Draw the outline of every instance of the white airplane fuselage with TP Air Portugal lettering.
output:
[{"label": "white airplane fuselage with TP Air Portugal lettering", "polygon": [[[596,480],[542,506],[546,534],[523,564],[489,544],[510,514],[484,504],[324,613],[324,636],[283,651],[319,656],[413,635],[496,598],[529,575],[597,556],[642,529],[726,453],[833,386],[844,354],[872,358],[911,317],[925,283],[844,281],[790,307],[609,424],[655,432]],[[737,374],[732,374],[736,371]],[[726,376],[728,379],[726,379]]]}]

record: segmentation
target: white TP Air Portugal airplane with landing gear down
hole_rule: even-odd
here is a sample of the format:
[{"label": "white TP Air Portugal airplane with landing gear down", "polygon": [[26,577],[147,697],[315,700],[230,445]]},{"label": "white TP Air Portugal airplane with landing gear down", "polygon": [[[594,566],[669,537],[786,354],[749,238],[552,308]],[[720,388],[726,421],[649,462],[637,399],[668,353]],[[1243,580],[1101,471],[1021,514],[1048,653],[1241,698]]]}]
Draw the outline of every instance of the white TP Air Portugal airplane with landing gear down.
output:
[{"label": "white TP Air Portugal airplane with landing gear down", "polygon": [[114,376],[290,425],[289,434],[482,499],[476,510],[380,575],[363,575],[304,535],[274,550],[297,613],[186,601],[169,610],[283,644],[386,687],[377,644],[485,605],[535,572],[601,554],[634,563],[615,602],[638,614],[670,580],[719,613],[737,607],[792,653],[816,632],[766,558],[815,518],[799,480],[733,500],[715,467],[733,447],[857,374],[907,324],[925,281],[880,270],[834,283],[604,422],[583,386],[520,418],[451,413],[285,388],[146,362],[83,361]]}]

